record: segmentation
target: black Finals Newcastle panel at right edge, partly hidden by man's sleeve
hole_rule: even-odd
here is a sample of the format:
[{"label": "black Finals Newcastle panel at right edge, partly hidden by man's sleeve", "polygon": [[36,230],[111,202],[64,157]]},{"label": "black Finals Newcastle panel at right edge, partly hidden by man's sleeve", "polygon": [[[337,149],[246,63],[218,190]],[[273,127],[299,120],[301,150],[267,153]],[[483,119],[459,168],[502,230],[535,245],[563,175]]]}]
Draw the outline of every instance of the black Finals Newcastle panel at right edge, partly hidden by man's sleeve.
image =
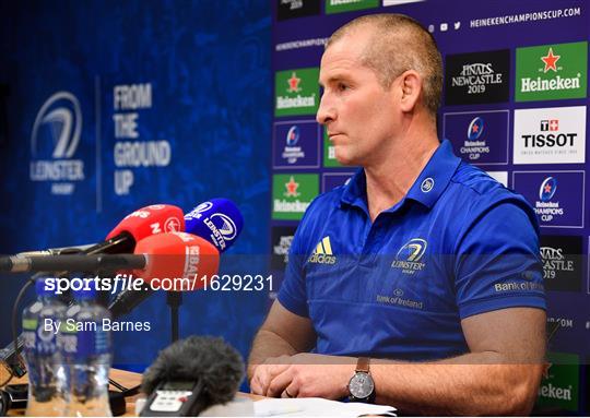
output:
[{"label": "black Finals Newcastle panel at right edge, partly hidden by man's sleeve", "polygon": [[582,237],[543,235],[540,250],[545,288],[580,291],[585,267]]}]

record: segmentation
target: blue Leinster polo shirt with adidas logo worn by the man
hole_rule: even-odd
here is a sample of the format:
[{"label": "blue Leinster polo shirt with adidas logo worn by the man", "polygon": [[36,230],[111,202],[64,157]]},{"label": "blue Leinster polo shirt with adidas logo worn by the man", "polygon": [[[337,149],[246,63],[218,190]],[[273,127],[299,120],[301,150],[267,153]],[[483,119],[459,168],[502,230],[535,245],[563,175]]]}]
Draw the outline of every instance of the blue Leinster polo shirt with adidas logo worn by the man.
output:
[{"label": "blue Leinster polo shirt with adidas logo worn by the man", "polygon": [[278,298],[311,320],[319,354],[461,355],[469,351],[462,319],[546,308],[536,217],[444,141],[408,194],[373,223],[363,169],[316,198]]}]

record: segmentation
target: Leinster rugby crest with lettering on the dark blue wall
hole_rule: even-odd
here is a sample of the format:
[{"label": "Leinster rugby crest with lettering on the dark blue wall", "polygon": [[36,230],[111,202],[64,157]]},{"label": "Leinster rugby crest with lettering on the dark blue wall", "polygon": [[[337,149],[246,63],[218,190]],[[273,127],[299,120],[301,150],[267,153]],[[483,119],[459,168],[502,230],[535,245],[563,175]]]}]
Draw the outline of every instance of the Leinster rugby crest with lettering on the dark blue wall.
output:
[{"label": "Leinster rugby crest with lettering on the dark blue wall", "polygon": [[73,159],[82,133],[82,111],[70,92],[51,95],[40,107],[31,134],[30,177],[51,182],[51,194],[72,194],[84,180],[84,162]]}]

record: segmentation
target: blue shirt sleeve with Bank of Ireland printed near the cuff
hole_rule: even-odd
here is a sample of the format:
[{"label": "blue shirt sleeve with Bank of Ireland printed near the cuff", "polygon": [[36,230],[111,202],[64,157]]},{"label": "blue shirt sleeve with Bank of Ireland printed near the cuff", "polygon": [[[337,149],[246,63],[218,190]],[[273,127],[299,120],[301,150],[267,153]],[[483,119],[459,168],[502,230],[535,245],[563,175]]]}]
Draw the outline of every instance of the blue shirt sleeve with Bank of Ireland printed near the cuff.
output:
[{"label": "blue shirt sleeve with Bank of Ireland printed near the cuff", "polygon": [[514,199],[481,211],[474,219],[456,250],[461,319],[504,308],[546,309],[532,208]]}]

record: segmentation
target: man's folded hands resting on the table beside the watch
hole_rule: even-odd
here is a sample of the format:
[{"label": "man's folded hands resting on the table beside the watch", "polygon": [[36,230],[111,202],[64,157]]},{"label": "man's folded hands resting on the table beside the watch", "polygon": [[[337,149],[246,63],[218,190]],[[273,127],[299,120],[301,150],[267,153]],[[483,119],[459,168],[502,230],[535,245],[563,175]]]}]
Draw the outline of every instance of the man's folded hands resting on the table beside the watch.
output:
[{"label": "man's folded hands resting on the table beside the watch", "polygon": [[[250,383],[253,393],[272,397],[323,397],[349,395],[347,384],[356,359],[302,353],[260,365]],[[280,362],[280,363],[279,363]]]}]

